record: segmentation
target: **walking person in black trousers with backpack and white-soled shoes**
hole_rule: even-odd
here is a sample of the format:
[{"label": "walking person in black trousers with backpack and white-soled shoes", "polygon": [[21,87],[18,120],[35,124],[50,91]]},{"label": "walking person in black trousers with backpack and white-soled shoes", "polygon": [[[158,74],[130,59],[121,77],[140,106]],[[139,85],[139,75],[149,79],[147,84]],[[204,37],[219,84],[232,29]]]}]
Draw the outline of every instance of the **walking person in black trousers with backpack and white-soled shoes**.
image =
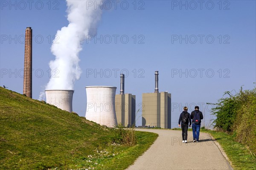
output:
[{"label": "walking person in black trousers with backpack and white-soled shoes", "polygon": [[179,118],[179,127],[180,127],[180,122],[181,122],[181,130],[182,130],[182,143],[187,143],[187,138],[188,138],[188,128],[191,127],[191,116],[187,112],[188,108],[184,107],[183,112],[180,113],[180,118]]}]

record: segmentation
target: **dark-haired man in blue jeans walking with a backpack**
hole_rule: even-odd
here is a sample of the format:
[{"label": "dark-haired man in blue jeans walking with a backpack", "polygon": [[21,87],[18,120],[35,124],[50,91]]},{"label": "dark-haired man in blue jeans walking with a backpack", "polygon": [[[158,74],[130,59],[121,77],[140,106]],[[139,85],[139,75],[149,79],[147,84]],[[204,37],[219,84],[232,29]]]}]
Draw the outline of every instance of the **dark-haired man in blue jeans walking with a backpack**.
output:
[{"label": "dark-haired man in blue jeans walking with a backpack", "polygon": [[203,113],[199,111],[199,107],[195,106],[195,111],[191,113],[193,142],[199,142],[199,133],[201,127],[201,119],[204,119]]}]

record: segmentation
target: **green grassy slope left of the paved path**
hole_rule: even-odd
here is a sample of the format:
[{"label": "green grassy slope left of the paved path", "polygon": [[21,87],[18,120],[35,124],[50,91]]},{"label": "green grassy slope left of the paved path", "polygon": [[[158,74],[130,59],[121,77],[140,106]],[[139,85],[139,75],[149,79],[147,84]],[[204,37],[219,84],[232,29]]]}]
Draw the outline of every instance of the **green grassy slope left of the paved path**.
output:
[{"label": "green grassy slope left of the paved path", "polygon": [[[0,88],[0,169],[125,169],[157,138],[114,144],[116,130]],[[89,169],[90,169],[89,168]]]}]

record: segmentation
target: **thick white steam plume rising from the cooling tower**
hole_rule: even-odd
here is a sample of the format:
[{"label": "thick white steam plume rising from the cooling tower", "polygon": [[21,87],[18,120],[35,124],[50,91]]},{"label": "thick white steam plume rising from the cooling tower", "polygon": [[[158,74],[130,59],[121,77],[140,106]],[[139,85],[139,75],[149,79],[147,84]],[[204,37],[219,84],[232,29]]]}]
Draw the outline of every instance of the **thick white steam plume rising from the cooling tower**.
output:
[{"label": "thick white steam plume rising from the cooling tower", "polygon": [[[73,90],[74,82],[80,78],[79,52],[87,35],[97,32],[97,23],[101,19],[101,1],[67,0],[68,26],[57,31],[57,43],[52,43],[51,51],[55,60],[49,62],[51,78],[47,90]],[[90,6],[88,6],[90,4]]]}]

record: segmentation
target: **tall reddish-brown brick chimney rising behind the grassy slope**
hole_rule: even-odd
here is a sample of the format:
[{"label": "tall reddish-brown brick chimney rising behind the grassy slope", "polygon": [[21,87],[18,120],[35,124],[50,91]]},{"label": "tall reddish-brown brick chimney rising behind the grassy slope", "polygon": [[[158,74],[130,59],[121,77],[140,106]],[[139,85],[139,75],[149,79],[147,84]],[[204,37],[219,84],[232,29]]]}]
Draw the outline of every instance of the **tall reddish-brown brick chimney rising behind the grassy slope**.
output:
[{"label": "tall reddish-brown brick chimney rising behind the grassy slope", "polygon": [[25,31],[23,94],[32,98],[32,29]]}]

